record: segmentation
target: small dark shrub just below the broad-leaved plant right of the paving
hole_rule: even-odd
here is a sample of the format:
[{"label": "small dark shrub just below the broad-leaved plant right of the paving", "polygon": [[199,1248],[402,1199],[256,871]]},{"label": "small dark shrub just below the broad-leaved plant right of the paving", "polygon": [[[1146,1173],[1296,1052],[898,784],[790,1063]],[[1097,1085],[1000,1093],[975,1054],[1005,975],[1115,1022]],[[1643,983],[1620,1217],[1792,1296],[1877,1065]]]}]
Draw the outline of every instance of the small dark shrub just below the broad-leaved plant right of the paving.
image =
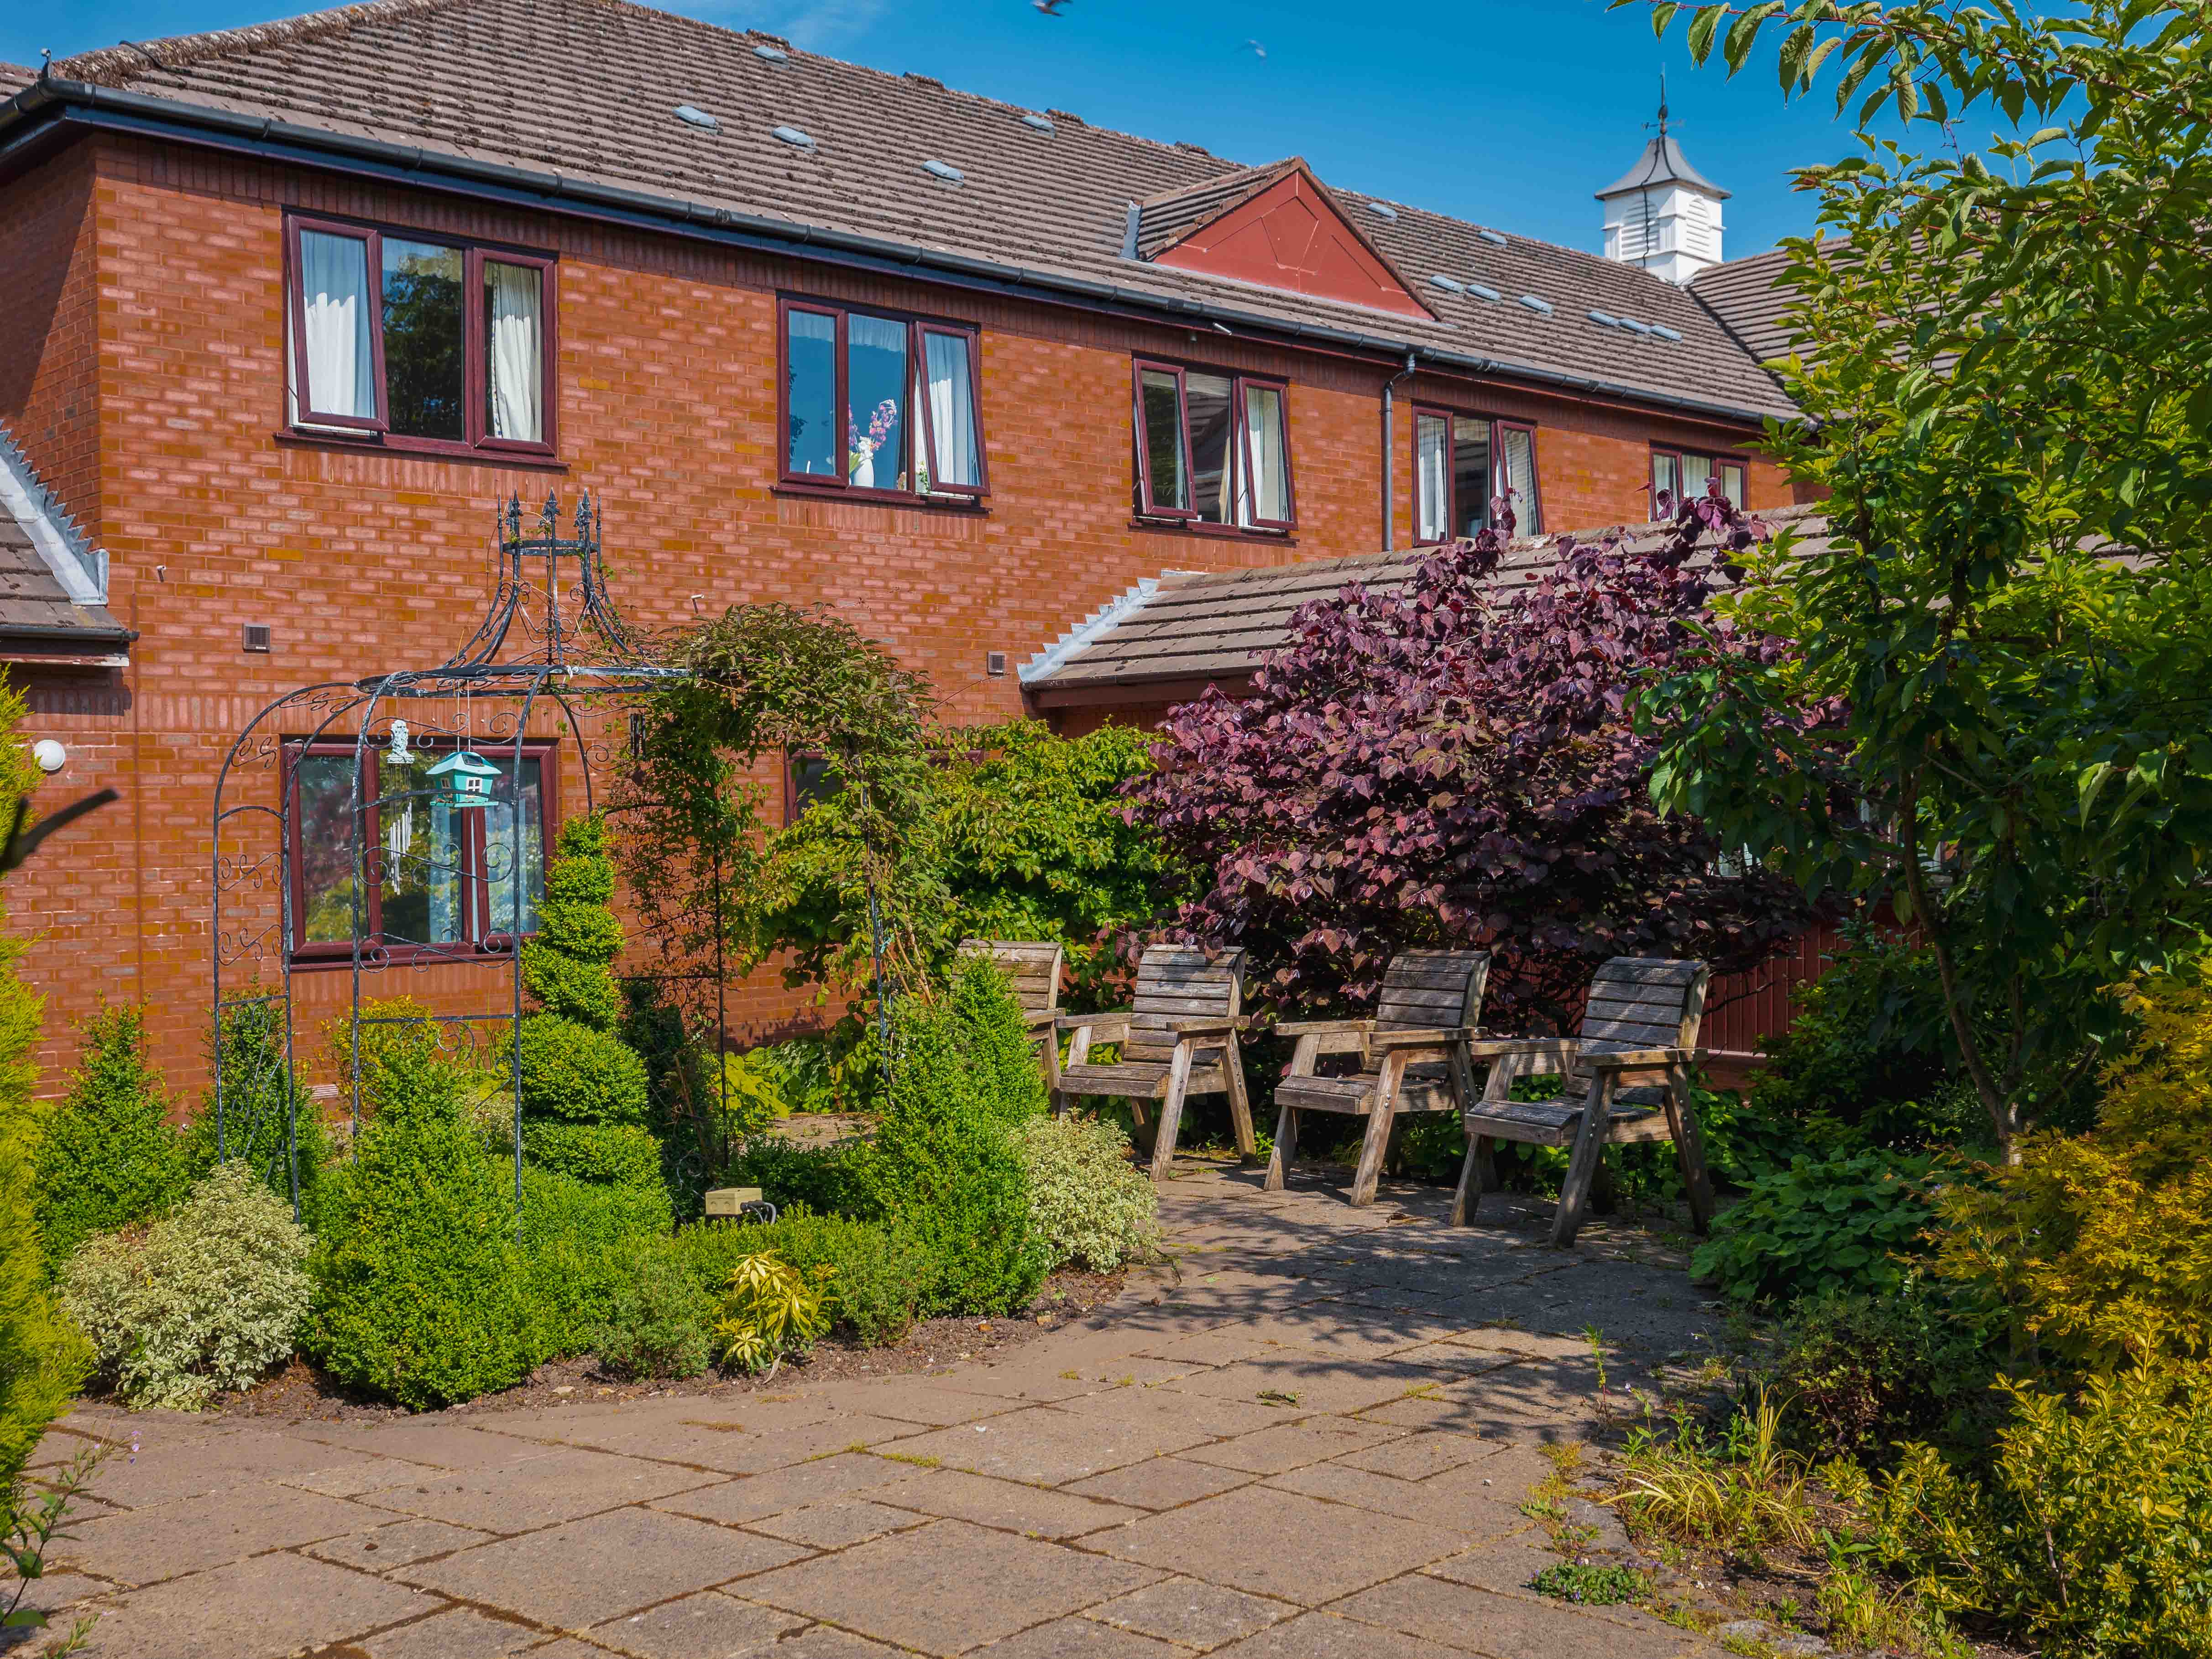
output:
[{"label": "small dark shrub just below the broad-leaved plant right of the paving", "polygon": [[1969,1444],[1995,1369],[1927,1290],[1807,1296],[1790,1310],[1767,1391],[1794,1447],[1887,1462],[1905,1440]]}]

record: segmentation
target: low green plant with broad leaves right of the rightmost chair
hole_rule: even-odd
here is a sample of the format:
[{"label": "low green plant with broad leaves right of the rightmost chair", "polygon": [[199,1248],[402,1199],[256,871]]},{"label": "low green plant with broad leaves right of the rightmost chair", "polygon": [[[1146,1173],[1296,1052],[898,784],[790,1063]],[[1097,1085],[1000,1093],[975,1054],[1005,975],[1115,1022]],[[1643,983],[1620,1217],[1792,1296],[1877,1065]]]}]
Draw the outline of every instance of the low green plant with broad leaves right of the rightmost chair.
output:
[{"label": "low green plant with broad leaves right of the rightmost chair", "polygon": [[1931,1159],[1896,1152],[1792,1159],[1714,1219],[1690,1272],[1736,1301],[1889,1294],[1936,1219],[1931,1170]]}]

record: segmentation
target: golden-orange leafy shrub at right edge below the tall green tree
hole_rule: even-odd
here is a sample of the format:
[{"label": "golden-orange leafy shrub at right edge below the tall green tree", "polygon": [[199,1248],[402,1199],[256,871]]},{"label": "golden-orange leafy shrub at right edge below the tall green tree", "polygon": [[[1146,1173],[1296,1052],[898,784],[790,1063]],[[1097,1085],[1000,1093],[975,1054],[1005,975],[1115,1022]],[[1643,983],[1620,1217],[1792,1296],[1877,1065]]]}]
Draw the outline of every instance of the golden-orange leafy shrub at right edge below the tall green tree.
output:
[{"label": "golden-orange leafy shrub at right edge below the tall green tree", "polygon": [[2097,1128],[2031,1135],[1991,1188],[1953,1188],[1936,1259],[2093,1369],[2212,1356],[2212,969],[2128,1004],[2141,1037],[2104,1073]]}]

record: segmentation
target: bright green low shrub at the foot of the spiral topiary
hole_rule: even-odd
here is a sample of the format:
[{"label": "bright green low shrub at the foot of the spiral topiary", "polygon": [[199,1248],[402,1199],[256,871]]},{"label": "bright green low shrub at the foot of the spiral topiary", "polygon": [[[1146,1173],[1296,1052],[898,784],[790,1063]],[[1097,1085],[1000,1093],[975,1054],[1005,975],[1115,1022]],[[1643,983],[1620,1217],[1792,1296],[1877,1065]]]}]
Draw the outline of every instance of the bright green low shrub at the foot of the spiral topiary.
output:
[{"label": "bright green low shrub at the foot of the spiral topiary", "polygon": [[624,1250],[672,1225],[659,1181],[602,1186],[524,1168],[520,1252],[533,1356],[586,1354],[613,1310]]}]

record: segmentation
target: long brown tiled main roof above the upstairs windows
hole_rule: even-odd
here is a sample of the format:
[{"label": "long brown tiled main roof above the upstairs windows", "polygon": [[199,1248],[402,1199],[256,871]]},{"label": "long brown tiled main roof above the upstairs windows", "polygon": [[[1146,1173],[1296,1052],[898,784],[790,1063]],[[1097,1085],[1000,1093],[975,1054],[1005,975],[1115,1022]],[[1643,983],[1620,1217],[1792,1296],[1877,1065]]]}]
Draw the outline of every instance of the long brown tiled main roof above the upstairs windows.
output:
[{"label": "long brown tiled main roof above the upstairs windows", "polygon": [[[1462,358],[1462,372],[1577,380],[1747,416],[1792,416],[1776,385],[1681,288],[1632,265],[1385,204],[1360,219],[1389,263],[1422,285],[1436,321],[1121,259],[1128,204],[1250,168],[1051,113],[796,51],[624,0],[369,0],[210,35],[106,49],[55,75],[425,153],[427,177],[500,164],[560,186],[637,190],[686,212],[754,215],[807,230],[1004,261],[1037,283],[1110,285],[1115,303],[1210,305],[1254,327],[1334,330]],[[69,95],[66,88],[58,95]],[[40,97],[31,93],[27,97]],[[690,104],[712,128],[677,119]],[[0,128],[7,113],[0,113]],[[243,126],[243,124],[241,124]],[[796,128],[812,144],[776,137]],[[931,177],[945,161],[962,181]],[[1338,186],[1356,210],[1358,192]],[[1495,232],[1491,232],[1495,237]],[[1498,301],[1431,288],[1480,283]],[[1517,303],[1533,294],[1548,312]],[[1608,327],[1635,319],[1681,338]],[[1473,365],[1482,367],[1473,367]]]}]

